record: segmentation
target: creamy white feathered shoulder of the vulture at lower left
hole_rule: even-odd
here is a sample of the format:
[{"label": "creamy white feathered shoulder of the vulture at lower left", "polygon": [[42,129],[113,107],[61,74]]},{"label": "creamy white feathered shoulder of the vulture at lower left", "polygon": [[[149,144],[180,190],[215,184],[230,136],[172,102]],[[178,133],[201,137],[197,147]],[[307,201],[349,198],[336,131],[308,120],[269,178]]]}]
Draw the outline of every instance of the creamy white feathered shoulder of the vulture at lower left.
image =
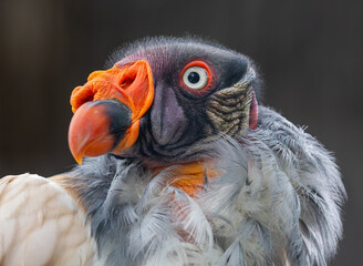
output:
[{"label": "creamy white feathered shoulder of the vulture at lower left", "polygon": [[62,176],[0,180],[0,265],[91,265],[85,216],[60,185]]}]

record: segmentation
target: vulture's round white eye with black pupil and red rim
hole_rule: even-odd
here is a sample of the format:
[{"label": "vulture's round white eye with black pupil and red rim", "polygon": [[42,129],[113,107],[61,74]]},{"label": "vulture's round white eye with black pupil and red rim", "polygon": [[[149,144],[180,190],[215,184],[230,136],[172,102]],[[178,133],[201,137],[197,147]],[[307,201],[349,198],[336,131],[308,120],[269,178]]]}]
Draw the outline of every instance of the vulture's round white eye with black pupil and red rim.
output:
[{"label": "vulture's round white eye with black pupil and red rim", "polygon": [[205,62],[194,61],[183,69],[180,80],[187,89],[199,91],[209,86],[210,70]]}]

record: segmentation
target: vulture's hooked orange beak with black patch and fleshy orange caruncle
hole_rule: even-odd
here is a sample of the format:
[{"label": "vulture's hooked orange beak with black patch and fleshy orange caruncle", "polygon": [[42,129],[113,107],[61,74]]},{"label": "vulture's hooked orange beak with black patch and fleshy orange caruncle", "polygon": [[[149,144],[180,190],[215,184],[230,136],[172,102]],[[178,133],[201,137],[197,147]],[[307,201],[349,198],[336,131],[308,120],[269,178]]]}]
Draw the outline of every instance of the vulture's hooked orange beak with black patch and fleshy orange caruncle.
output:
[{"label": "vulture's hooked orange beak with black patch and fleshy orange caruncle", "polygon": [[138,137],[139,119],[153,103],[154,82],[145,60],[90,74],[72,92],[74,113],[69,145],[75,161],[105,153],[120,154]]}]

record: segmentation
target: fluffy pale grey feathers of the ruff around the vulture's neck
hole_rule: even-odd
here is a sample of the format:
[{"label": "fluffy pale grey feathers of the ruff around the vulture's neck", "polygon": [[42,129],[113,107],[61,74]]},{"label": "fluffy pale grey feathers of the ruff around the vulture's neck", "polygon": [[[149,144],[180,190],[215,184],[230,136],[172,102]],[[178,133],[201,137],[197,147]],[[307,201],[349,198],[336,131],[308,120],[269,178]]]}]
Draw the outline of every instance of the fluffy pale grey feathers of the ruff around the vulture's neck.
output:
[{"label": "fluffy pale grey feathers of the ruff around the vulture's neck", "polygon": [[[224,49],[195,42],[198,49]],[[241,106],[247,112],[251,99],[241,101],[247,102]],[[215,120],[214,130],[207,131],[212,137],[194,145],[198,146],[194,158],[212,158],[218,163],[210,167],[221,173],[216,178],[206,174],[205,186],[195,197],[169,182],[173,170],[179,167],[177,156],[156,176],[143,157],[112,154],[86,158],[70,173],[71,185],[83,198],[101,264],[329,263],[342,236],[340,212],[345,197],[333,156],[269,108],[259,105],[256,130],[248,129],[246,115],[230,119],[245,117],[238,121],[238,130],[224,124],[225,119]]]}]

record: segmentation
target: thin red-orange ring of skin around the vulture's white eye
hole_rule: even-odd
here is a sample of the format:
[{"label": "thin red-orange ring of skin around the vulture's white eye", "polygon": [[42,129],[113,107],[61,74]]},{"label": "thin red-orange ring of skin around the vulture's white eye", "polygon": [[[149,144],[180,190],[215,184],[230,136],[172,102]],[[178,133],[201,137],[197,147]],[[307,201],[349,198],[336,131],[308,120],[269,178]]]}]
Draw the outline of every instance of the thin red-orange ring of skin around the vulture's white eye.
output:
[{"label": "thin red-orange ring of skin around the vulture's white eye", "polygon": [[[201,68],[199,71],[204,71],[206,73],[206,81],[205,83],[200,84],[201,86],[200,88],[197,88],[197,86],[191,86],[190,82],[186,81],[185,80],[185,76],[184,74],[186,73],[186,71],[188,71],[190,68],[195,68],[195,70],[198,70],[198,68]],[[200,73],[199,73],[200,74]],[[198,76],[198,81],[199,81],[199,78]],[[204,79],[204,76],[203,76]],[[208,88],[210,88],[210,84],[211,84],[211,81],[212,81],[212,74],[211,74],[211,71],[209,69],[209,66],[204,62],[204,61],[200,61],[200,60],[196,60],[196,61],[191,61],[190,63],[188,63],[187,65],[185,65],[180,72],[180,84],[187,89],[188,91],[191,91],[193,93],[199,93]],[[186,84],[186,83],[189,83]]]}]

